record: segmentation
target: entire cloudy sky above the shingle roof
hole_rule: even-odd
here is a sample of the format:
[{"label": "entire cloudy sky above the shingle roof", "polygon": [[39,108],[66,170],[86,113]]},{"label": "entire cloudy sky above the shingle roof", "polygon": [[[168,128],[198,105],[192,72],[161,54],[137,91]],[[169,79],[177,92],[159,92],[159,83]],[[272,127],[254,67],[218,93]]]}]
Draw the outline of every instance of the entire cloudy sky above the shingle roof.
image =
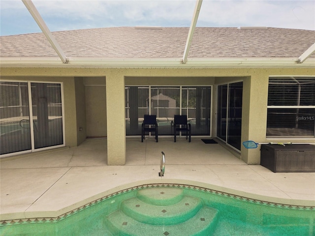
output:
[{"label": "entire cloudy sky above the shingle roof", "polygon": [[[50,31],[190,27],[196,0],[33,0]],[[315,0],[203,0],[196,27],[315,30]],[[22,0],[0,0],[0,35],[41,32]]]}]

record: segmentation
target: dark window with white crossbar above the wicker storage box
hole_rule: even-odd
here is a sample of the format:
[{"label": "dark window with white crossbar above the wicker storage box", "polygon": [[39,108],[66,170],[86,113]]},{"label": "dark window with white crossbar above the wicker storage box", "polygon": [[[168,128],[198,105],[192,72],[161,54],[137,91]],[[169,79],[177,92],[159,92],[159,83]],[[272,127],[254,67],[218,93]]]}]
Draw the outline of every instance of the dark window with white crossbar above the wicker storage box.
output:
[{"label": "dark window with white crossbar above the wicker storage box", "polygon": [[315,77],[270,77],[267,137],[315,137]]}]

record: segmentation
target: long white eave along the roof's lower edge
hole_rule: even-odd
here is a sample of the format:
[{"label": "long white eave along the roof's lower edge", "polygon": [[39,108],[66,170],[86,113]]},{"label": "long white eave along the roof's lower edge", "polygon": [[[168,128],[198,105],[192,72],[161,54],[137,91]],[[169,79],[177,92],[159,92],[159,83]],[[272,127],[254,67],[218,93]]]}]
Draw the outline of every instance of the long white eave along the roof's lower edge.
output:
[{"label": "long white eave along the roof's lower edge", "polygon": [[315,68],[315,58],[297,63],[296,58],[80,58],[69,57],[0,57],[0,67],[65,68]]}]

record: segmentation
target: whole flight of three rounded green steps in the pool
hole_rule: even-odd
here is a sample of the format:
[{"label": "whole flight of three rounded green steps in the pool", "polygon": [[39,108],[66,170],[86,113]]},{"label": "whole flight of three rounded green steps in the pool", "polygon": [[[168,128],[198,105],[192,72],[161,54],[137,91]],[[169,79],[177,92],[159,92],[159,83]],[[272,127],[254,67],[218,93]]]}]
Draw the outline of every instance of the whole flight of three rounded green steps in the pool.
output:
[{"label": "whole flight of three rounded green steps in the pool", "polygon": [[181,188],[146,188],[121,203],[104,222],[119,236],[204,236],[214,232],[217,209],[203,206],[199,198]]}]

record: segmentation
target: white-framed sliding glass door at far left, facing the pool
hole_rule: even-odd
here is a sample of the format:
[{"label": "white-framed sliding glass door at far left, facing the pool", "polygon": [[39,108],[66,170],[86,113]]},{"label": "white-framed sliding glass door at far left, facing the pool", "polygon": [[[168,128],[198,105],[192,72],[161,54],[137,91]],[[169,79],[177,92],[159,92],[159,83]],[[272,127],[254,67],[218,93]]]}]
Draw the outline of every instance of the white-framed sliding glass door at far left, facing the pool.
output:
[{"label": "white-framed sliding glass door at far left, facing the pool", "polygon": [[1,82],[0,88],[1,154],[63,144],[61,84]]}]

